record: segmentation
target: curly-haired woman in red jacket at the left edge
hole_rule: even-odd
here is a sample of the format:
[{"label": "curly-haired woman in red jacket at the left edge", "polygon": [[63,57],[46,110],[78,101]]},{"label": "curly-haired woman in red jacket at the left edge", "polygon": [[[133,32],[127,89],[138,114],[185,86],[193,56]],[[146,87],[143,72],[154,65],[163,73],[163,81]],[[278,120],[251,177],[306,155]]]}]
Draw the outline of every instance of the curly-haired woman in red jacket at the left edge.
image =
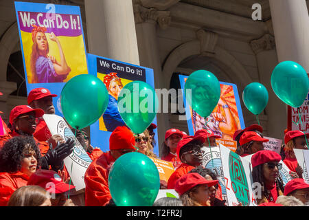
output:
[{"label": "curly-haired woman in red jacket at the left edge", "polygon": [[41,153],[30,136],[16,136],[0,149],[0,206],[6,206],[12,193],[27,186],[41,164]]}]

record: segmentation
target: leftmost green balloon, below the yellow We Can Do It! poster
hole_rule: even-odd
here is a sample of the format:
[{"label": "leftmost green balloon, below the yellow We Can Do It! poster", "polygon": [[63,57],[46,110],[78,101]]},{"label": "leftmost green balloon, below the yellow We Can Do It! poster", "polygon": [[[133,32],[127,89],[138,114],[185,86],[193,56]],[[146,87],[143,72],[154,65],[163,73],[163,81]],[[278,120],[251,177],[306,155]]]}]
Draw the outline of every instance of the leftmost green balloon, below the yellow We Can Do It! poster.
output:
[{"label": "leftmost green balloon, below the yellow We Can Do It! poster", "polygon": [[62,88],[60,104],[65,120],[73,128],[82,129],[102,116],[108,105],[108,92],[98,77],[81,74]]}]

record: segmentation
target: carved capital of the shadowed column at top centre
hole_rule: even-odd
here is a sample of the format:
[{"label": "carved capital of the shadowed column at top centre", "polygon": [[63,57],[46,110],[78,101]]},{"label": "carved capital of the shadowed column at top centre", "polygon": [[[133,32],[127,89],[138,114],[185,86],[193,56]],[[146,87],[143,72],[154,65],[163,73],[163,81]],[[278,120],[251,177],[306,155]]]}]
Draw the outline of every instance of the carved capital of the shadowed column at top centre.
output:
[{"label": "carved capital of the shadowed column at top centre", "polygon": [[160,11],[156,8],[144,8],[139,4],[133,5],[135,23],[144,23],[152,20],[159,24],[160,28],[166,29],[172,21],[169,11]]}]

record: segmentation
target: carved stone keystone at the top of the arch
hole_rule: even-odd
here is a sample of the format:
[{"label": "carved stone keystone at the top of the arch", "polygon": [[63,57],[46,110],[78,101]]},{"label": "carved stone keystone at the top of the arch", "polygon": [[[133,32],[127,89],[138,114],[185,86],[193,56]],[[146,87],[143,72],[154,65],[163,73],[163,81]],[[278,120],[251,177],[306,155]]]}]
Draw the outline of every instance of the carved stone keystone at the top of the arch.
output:
[{"label": "carved stone keystone at the top of the arch", "polygon": [[201,55],[214,56],[216,44],[218,42],[218,34],[214,32],[205,32],[205,30],[198,30],[196,38],[201,43]]}]

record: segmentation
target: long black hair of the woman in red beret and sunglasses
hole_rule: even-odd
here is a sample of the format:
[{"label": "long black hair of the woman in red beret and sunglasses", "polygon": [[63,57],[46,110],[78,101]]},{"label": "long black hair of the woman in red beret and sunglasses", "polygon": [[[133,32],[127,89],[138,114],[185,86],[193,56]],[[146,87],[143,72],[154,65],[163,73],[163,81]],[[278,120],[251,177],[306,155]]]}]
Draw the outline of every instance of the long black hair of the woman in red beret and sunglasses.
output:
[{"label": "long black hair of the woman in red beret and sunglasses", "polygon": [[[263,175],[263,164],[260,164],[260,165],[252,168],[252,179],[253,179],[253,183],[258,182],[258,183],[261,184],[262,195],[264,195],[266,198],[268,198],[268,192],[267,192],[266,187],[265,187],[265,179],[264,179],[264,175]],[[275,182],[276,182],[277,192],[279,191],[279,189],[282,192],[284,192],[283,180],[282,180],[282,178],[280,177],[279,174],[278,174],[278,177],[275,180]]]}]

